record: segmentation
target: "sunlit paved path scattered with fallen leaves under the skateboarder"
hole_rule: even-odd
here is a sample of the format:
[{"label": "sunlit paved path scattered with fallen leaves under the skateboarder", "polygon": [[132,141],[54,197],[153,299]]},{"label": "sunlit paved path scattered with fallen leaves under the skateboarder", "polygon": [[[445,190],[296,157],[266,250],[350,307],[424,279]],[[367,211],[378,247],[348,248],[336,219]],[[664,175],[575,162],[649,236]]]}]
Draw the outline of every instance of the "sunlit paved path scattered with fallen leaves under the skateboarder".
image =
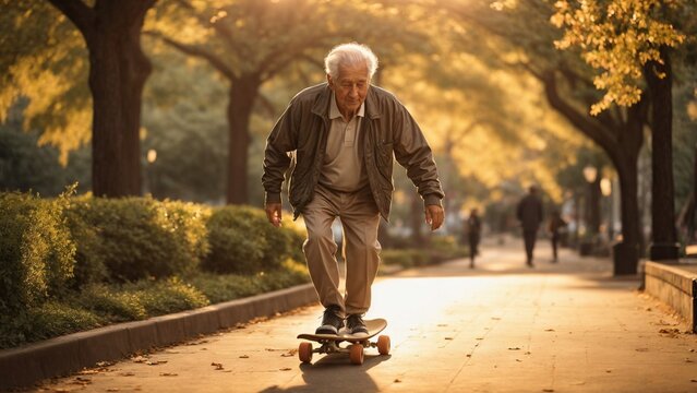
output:
[{"label": "sunlit paved path scattered with fallen leaves under the skateboarder", "polygon": [[298,361],[309,307],[185,345],[44,384],[88,392],[697,392],[697,335],[664,307],[610,276],[608,260],[542,242],[485,245],[478,267],[453,261],[374,285],[369,318],[389,321],[392,354],[366,349]]}]

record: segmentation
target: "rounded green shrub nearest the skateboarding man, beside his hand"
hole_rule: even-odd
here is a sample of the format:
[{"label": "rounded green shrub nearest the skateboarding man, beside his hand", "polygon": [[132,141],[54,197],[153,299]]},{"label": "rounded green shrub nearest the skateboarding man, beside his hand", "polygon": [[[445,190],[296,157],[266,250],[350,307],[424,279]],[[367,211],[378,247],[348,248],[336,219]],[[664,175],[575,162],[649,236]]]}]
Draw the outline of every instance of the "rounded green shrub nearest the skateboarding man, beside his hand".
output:
[{"label": "rounded green shrub nearest the skateboarding man, beside his hand", "polygon": [[295,228],[276,228],[266,214],[250,206],[217,209],[208,219],[211,253],[204,269],[216,273],[255,274],[277,270],[301,252]]}]

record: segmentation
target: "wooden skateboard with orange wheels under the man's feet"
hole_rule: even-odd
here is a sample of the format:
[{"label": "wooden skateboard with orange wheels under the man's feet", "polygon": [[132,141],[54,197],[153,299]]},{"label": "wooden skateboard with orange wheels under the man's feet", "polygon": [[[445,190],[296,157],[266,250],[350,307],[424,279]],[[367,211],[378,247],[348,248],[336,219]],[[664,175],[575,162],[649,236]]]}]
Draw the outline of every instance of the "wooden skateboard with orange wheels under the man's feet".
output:
[{"label": "wooden skateboard with orange wheels under the man's feet", "polygon": [[[372,342],[371,338],[377,335],[387,326],[387,321],[384,319],[365,320],[365,327],[368,327],[368,335],[353,336],[348,333],[339,334],[300,334],[298,338],[310,340],[320,343],[319,348],[313,348],[312,343],[302,342],[298,347],[298,357],[300,361],[309,364],[312,361],[312,354],[335,354],[345,353],[349,354],[349,359],[353,365],[363,364],[363,348],[375,348],[380,355],[389,354],[389,336],[381,335],[376,342]],[[341,346],[341,343],[348,343],[347,346]]]}]

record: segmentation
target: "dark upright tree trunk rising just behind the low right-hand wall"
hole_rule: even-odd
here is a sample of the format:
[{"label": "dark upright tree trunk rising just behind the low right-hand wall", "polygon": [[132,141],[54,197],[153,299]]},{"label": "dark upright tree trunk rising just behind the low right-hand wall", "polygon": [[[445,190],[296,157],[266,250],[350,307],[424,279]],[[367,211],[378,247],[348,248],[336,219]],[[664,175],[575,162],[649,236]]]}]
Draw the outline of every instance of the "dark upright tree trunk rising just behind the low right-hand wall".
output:
[{"label": "dark upright tree trunk rising just behind the low right-hand wall", "polygon": [[[672,70],[668,48],[660,49],[663,63],[648,62],[644,73],[651,102],[651,260],[677,259],[673,184]],[[662,74],[663,78],[660,78]]]}]

